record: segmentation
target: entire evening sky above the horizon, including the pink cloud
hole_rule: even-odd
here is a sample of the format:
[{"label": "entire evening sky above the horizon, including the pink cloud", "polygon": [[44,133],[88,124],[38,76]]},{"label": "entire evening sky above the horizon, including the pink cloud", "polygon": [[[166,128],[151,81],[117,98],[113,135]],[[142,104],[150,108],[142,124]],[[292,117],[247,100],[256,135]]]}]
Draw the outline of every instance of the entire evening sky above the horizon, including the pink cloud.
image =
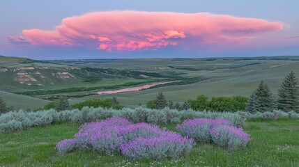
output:
[{"label": "entire evening sky above the horizon, including the pink cloud", "polygon": [[295,56],[298,6],[297,0],[0,0],[0,55]]}]

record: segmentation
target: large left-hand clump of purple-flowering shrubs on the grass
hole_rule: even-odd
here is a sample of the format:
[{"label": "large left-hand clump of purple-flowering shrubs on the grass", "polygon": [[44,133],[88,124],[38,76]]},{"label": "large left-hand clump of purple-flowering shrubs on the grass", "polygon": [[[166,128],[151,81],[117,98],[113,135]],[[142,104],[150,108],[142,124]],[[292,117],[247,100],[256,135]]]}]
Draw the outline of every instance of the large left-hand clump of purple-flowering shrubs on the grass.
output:
[{"label": "large left-hand clump of purple-flowering shrubs on the grass", "polygon": [[[74,140],[75,148],[80,150],[94,150],[105,154],[123,153],[131,158],[180,157],[190,152],[193,146],[192,139],[167,129],[160,129],[157,125],[144,122],[132,124],[125,118],[118,117],[85,123],[70,140]],[[59,153],[69,151],[66,143],[68,142],[61,141],[56,145]],[[151,154],[144,153],[145,150],[138,150],[138,145],[147,146],[146,152]]]}]

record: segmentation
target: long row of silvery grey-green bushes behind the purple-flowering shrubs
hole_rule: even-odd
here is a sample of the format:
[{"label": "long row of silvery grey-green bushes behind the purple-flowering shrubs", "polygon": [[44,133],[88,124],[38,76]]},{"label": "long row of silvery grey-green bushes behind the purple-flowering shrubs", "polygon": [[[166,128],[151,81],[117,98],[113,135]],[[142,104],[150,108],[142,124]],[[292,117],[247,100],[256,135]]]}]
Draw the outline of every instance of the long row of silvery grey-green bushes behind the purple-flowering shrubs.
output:
[{"label": "long row of silvery grey-green bushes behind the purple-flowering shrubs", "polygon": [[[131,122],[148,122],[152,124],[169,124],[179,123],[183,120],[194,118],[208,118],[208,119],[225,119],[230,120],[236,127],[241,127],[246,119],[249,120],[275,120],[275,119],[297,119],[299,113],[283,111],[275,111],[277,113],[220,113],[203,111],[197,112],[192,109],[186,111],[177,111],[175,109],[146,109],[137,107],[136,109],[124,108],[121,110],[116,109],[103,109],[85,107],[82,111],[78,109],[55,111],[54,109],[43,110],[37,112],[26,111],[10,111],[3,113],[0,116],[0,132],[13,132],[20,129],[29,127],[45,126],[55,122],[74,122],[84,123],[95,120],[102,120],[118,116],[126,118]],[[274,115],[273,115],[274,114]]]}]

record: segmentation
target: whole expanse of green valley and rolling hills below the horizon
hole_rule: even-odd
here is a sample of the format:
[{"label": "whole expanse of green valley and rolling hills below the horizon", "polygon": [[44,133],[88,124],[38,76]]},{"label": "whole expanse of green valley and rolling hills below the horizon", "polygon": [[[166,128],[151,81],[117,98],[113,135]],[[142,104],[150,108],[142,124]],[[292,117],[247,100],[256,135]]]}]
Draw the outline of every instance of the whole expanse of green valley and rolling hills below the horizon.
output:
[{"label": "whole expanse of green valley and rolling hills below the horizon", "polygon": [[[131,106],[140,102],[145,104],[146,101],[155,98],[160,91],[174,102],[183,102],[200,94],[209,97],[233,95],[249,97],[262,79],[276,95],[279,84],[286,74],[293,71],[299,77],[299,56],[91,59],[50,62],[27,58],[1,58],[6,61],[0,63],[0,90],[10,93],[57,90],[53,95],[46,93],[32,97],[52,99],[59,95],[70,95],[72,103],[92,98],[118,97],[122,104]],[[202,80],[193,84],[163,86],[137,92],[92,95],[102,90],[101,86],[118,89],[151,81],[188,81],[191,78]],[[114,88],[114,85],[119,86]],[[68,88],[75,89],[62,93],[61,89]],[[90,89],[78,91],[78,88]]]}]

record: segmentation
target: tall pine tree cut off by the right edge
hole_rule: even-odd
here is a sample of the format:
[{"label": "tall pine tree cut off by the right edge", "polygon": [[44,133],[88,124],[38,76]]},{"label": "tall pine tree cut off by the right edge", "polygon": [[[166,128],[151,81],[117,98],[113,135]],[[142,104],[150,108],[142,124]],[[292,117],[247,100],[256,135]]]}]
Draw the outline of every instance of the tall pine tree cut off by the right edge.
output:
[{"label": "tall pine tree cut off by the right edge", "polygon": [[299,112],[299,81],[294,72],[286,76],[278,90],[278,109]]}]

